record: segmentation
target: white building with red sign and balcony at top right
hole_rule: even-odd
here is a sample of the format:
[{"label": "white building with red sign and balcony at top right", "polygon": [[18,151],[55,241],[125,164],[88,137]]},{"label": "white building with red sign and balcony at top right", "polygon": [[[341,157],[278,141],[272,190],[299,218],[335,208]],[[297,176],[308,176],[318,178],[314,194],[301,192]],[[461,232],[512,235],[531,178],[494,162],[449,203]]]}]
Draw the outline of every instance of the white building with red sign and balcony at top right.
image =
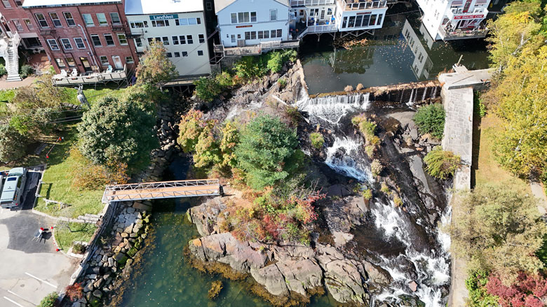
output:
[{"label": "white building with red sign and balcony at top right", "polygon": [[482,38],[490,0],[417,0],[423,22],[435,41]]}]

